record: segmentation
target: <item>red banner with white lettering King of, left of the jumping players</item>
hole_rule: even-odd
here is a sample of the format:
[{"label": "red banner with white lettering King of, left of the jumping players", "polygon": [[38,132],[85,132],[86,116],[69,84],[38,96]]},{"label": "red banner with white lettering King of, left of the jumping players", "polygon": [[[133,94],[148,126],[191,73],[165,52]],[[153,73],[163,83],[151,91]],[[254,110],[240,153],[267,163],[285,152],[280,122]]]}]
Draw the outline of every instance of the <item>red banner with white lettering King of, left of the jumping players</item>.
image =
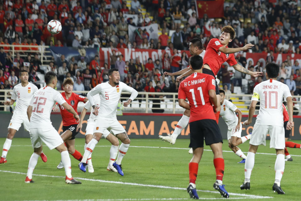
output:
[{"label": "red banner with white lettering King of, left of the jumping players", "polygon": [[[104,63],[108,63],[108,66],[110,66],[110,55],[112,55],[112,51],[116,52],[116,55],[122,54],[124,61],[129,61],[130,59],[139,58],[140,62],[143,62],[143,64],[147,63],[148,58],[152,58],[153,62],[155,62],[156,59],[162,60],[162,55],[167,52],[169,56],[171,56],[171,52],[169,50],[146,50],[146,49],[127,49],[127,48],[107,48],[102,47],[99,48],[99,65],[104,66]],[[179,54],[182,54],[182,52],[186,52],[187,56],[190,57],[189,51],[184,50],[178,50]]]}]

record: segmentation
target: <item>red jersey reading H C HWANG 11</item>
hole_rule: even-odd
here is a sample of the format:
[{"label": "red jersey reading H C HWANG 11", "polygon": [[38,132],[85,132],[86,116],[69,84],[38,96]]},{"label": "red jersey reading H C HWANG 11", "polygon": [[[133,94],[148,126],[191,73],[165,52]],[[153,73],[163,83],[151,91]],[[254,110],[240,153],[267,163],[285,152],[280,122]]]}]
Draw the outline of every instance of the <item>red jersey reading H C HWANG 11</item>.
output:
[{"label": "red jersey reading H C HWANG 11", "polygon": [[189,122],[216,119],[209,99],[209,90],[211,89],[215,91],[215,78],[204,73],[193,73],[181,82],[178,99],[187,98],[189,101]]}]

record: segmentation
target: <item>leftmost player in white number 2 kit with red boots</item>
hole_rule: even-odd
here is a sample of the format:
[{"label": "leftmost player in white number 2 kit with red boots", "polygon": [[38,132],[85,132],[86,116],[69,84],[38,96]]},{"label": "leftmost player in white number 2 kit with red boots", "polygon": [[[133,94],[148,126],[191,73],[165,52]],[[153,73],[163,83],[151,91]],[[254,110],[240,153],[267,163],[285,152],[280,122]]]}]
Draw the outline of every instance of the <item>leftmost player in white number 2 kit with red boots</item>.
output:
[{"label": "leftmost player in white number 2 kit with red boots", "polygon": [[[29,131],[29,120],[27,118],[26,111],[29,105],[29,101],[34,95],[34,92],[38,90],[38,88],[34,84],[28,82],[28,72],[26,70],[20,71],[19,79],[21,80],[21,83],[13,87],[11,100],[7,100],[4,102],[4,105],[13,105],[15,101],[17,101],[17,104],[13,112],[13,117],[8,125],[8,134],[3,144],[3,151],[0,158],[0,164],[7,162],[6,156],[12,144],[12,139],[21,127],[22,123],[24,129]],[[47,161],[47,157],[44,153],[41,153],[41,158],[44,162]]]}]

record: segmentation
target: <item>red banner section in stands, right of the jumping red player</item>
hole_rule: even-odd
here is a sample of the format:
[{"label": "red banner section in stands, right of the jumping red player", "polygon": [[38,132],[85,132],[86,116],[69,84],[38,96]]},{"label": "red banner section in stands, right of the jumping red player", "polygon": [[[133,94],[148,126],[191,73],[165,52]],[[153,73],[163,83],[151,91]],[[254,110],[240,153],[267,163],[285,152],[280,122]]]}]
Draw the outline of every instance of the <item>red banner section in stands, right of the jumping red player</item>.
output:
[{"label": "red banner section in stands, right of the jumping red player", "polygon": [[[249,61],[252,61],[252,65],[256,65],[257,61],[261,63],[261,66],[264,67],[267,64],[267,53],[246,53],[244,55],[247,59],[247,64]],[[281,64],[285,60],[291,60],[292,65],[294,64],[295,60],[298,63],[301,63],[301,54],[274,54],[274,61],[278,64]]]}]

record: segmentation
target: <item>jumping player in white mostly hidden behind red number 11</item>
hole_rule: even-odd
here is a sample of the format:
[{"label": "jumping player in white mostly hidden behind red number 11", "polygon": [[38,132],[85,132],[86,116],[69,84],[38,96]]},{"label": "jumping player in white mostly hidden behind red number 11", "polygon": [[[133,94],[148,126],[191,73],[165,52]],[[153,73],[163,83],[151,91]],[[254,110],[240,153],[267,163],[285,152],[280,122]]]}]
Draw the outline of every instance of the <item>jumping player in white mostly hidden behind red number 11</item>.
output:
[{"label": "jumping player in white mostly hidden behind red number 11", "polygon": [[[191,56],[199,55],[202,58],[204,58],[205,50],[202,49],[202,41],[198,38],[194,38],[190,41],[189,51],[190,51]],[[184,69],[182,69],[180,71],[177,71],[175,73],[164,72],[164,74],[169,75],[169,76],[182,75],[183,73],[186,73],[189,69],[190,69],[190,67],[188,66],[188,68],[184,68]],[[183,116],[179,120],[179,122],[177,123],[177,126],[176,126],[175,130],[173,131],[172,135],[170,135],[170,134],[168,134],[167,136],[160,135],[159,138],[161,138],[162,140],[164,140],[166,142],[169,142],[170,144],[175,144],[178,135],[188,125],[189,117],[190,117],[190,110],[185,109],[185,111],[183,112]],[[192,148],[189,149],[189,153],[192,154]]]}]

